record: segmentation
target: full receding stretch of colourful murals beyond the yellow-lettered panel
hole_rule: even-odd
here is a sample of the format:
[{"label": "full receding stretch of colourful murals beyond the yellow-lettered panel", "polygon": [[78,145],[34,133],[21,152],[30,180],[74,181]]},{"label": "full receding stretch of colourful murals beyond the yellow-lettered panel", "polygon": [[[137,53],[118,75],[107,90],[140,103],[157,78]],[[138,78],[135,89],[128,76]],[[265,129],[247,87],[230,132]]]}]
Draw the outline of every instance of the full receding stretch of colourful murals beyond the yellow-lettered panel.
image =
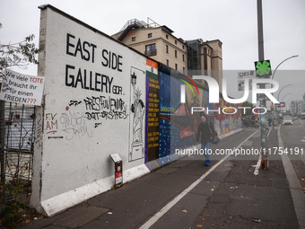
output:
[{"label": "full receding stretch of colourful murals beyond the yellow-lettered panel", "polygon": [[[159,158],[174,154],[175,149],[195,145],[195,135],[202,112],[205,112],[208,120],[213,123],[219,136],[241,128],[241,110],[237,109],[240,104],[231,104],[222,98],[220,103],[209,103],[209,92],[199,88],[198,93],[194,87],[190,88],[188,85],[186,103],[181,103],[181,84],[185,84],[184,81],[162,72],[159,72],[159,80]],[[191,114],[192,107],[203,107],[205,110]],[[236,114],[225,114],[234,112],[234,109],[228,108],[236,108]]]}]

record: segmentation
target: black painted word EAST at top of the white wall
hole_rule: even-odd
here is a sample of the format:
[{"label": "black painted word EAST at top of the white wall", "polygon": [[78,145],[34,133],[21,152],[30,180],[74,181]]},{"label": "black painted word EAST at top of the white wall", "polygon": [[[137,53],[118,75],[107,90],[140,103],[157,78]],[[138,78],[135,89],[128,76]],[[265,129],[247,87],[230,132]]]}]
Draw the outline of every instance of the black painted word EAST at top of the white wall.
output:
[{"label": "black painted word EAST at top of the white wall", "polygon": [[80,38],[76,41],[75,36],[66,33],[66,54],[77,57],[78,55],[86,60],[94,63],[94,49],[97,48],[96,45],[88,42],[82,41]]}]

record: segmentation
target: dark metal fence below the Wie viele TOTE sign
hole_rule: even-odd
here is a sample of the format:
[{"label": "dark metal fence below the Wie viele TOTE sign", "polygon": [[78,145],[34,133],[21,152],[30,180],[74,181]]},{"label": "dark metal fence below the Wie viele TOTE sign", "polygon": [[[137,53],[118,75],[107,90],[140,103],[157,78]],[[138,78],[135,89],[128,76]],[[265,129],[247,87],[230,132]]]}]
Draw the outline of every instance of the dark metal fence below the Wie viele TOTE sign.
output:
[{"label": "dark metal fence below the Wie viele TOTE sign", "polygon": [[5,184],[21,183],[29,193],[33,162],[35,107],[0,101],[0,166]]}]

